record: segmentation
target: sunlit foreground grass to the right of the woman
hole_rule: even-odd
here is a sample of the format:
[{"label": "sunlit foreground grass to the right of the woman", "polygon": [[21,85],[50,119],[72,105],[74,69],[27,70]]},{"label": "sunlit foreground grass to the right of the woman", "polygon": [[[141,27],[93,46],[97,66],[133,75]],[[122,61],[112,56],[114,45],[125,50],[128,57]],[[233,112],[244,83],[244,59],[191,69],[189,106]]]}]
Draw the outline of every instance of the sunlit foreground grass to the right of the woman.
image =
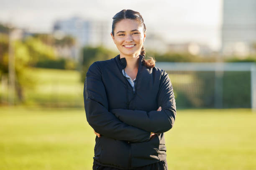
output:
[{"label": "sunlit foreground grass to the right of the woman", "polygon": [[175,170],[254,170],[256,112],[250,109],[178,111],[166,132],[168,165]]}]

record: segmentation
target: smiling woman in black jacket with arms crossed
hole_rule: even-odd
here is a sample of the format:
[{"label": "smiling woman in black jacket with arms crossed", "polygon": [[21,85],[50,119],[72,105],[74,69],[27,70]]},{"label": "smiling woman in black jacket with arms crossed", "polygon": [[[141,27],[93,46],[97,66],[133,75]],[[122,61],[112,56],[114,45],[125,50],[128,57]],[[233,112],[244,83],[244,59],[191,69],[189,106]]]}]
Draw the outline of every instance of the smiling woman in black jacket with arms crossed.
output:
[{"label": "smiling woman in black jacket with arms crossed", "polygon": [[87,122],[95,130],[93,170],[167,170],[164,132],[176,104],[168,74],[145,60],[146,26],[140,13],[113,17],[120,54],[89,67],[84,81]]}]

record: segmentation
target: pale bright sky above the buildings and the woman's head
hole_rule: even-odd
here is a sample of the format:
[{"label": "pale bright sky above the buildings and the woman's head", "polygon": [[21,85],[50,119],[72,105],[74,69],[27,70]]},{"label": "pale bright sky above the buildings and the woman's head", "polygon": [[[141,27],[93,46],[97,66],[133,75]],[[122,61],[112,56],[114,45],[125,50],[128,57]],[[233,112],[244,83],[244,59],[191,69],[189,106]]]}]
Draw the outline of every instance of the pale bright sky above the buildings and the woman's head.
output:
[{"label": "pale bright sky above the buildings and the woman's head", "polygon": [[220,48],[222,0],[0,0],[0,23],[51,32],[58,19],[79,16],[111,23],[123,9],[141,13],[147,33],[156,33],[168,43]]}]

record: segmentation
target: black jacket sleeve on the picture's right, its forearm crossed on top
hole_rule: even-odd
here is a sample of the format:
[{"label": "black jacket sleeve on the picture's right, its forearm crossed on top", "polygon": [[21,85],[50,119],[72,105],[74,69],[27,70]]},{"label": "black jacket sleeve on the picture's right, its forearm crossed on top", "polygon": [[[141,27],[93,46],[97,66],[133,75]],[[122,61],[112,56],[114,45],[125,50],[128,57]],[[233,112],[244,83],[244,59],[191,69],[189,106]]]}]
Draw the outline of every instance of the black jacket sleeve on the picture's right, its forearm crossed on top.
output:
[{"label": "black jacket sleeve on the picture's right, its forearm crossed on top", "polygon": [[112,109],[121,121],[149,132],[163,133],[171,129],[176,117],[176,103],[172,83],[168,74],[163,71],[158,91],[158,107],[161,111],[142,111],[128,109]]}]

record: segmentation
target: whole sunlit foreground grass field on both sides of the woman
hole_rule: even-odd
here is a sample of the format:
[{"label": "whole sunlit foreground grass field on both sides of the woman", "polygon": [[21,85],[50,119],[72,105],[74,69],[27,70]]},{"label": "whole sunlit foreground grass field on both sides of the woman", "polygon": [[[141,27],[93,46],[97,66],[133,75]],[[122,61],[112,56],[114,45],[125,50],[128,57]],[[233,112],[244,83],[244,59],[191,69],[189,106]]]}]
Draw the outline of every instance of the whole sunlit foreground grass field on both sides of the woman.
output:
[{"label": "whole sunlit foreground grass field on both sides of the woman", "polygon": [[[256,113],[177,110],[165,132],[169,170],[256,170]],[[0,108],[0,170],[91,170],[84,109]]]}]

